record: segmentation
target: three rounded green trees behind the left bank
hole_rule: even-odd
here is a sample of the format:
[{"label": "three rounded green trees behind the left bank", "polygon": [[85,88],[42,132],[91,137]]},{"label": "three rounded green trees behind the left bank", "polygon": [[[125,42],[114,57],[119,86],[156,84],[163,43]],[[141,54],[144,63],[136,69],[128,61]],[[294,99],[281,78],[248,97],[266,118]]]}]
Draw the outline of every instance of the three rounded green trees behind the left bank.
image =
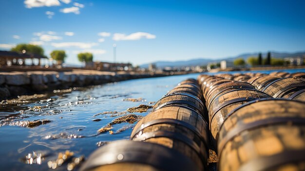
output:
[{"label": "three rounded green trees behind the left bank", "polygon": [[[11,51],[18,52],[18,53],[31,53],[40,56],[44,55],[44,50],[41,46],[33,45],[33,44],[25,44],[21,43],[18,44],[16,47],[12,48]],[[65,58],[67,57],[66,52],[64,50],[53,50],[50,53],[50,57],[56,61],[64,62]],[[77,58],[80,62],[92,62],[93,55],[92,53],[85,52],[77,54]]]}]

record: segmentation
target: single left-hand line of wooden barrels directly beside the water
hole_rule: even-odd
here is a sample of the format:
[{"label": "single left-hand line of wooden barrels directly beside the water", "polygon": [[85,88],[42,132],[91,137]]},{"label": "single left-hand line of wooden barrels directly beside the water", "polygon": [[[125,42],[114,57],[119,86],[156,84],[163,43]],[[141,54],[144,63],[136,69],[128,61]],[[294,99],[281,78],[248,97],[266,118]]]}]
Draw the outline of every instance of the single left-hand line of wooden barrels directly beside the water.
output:
[{"label": "single left-hand line of wooden barrels directly beside the water", "polygon": [[210,133],[201,88],[180,82],[133,128],[130,139],[96,150],[81,171],[205,171]]}]

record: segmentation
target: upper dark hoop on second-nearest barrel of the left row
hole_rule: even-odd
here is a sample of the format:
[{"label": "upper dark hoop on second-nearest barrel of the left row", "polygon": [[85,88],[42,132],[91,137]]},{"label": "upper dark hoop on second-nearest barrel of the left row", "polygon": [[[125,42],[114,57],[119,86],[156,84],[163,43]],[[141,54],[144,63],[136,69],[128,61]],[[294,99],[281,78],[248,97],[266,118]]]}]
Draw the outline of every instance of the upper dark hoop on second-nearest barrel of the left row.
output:
[{"label": "upper dark hoop on second-nearest barrel of the left row", "polygon": [[[192,126],[191,124],[182,121],[182,120],[177,120],[177,119],[168,119],[168,118],[164,118],[164,119],[155,119],[149,122],[145,122],[143,123],[136,131],[135,134],[133,135],[133,137],[138,134],[141,130],[150,127],[152,125],[157,125],[157,124],[173,124],[173,125],[178,125],[178,126],[183,126],[189,130],[191,130],[191,132],[195,133],[200,139],[201,141],[206,145],[206,147],[208,147],[208,134],[206,136],[203,136],[200,131]],[[208,125],[206,125],[206,129],[208,129]],[[208,131],[208,130],[206,130]],[[131,139],[133,139],[133,137],[131,137]]]}]

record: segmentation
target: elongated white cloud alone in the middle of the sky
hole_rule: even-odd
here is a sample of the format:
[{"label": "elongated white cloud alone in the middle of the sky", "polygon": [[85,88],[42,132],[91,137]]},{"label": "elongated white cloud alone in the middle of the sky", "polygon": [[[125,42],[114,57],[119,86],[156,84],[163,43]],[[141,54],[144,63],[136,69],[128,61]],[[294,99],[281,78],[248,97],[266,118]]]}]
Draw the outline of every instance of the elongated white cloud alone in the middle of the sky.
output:
[{"label": "elongated white cloud alone in the middle of the sky", "polygon": [[112,39],[118,41],[118,40],[139,40],[141,38],[154,39],[156,38],[156,36],[145,32],[136,32],[130,35],[115,33]]}]

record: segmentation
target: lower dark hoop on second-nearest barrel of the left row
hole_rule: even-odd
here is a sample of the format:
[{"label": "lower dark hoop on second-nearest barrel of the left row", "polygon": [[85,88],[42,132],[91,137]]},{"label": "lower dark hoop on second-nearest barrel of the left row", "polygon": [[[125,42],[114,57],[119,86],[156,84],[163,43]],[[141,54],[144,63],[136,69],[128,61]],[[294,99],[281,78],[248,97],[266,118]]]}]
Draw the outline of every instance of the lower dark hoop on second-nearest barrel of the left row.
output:
[{"label": "lower dark hoop on second-nearest barrel of the left row", "polygon": [[[145,141],[150,138],[159,138],[159,137],[172,138],[172,139],[176,139],[178,141],[184,142],[199,155],[202,162],[206,165],[206,163],[207,163],[206,159],[208,158],[207,147],[205,147],[205,149],[201,149],[193,140],[191,140],[189,137],[187,137],[181,133],[174,133],[174,132],[169,132],[169,131],[155,131],[155,132],[150,132],[150,133],[143,133],[143,134],[139,135],[138,137],[135,137],[133,140],[134,141]],[[204,153],[202,153],[201,150]]]}]

